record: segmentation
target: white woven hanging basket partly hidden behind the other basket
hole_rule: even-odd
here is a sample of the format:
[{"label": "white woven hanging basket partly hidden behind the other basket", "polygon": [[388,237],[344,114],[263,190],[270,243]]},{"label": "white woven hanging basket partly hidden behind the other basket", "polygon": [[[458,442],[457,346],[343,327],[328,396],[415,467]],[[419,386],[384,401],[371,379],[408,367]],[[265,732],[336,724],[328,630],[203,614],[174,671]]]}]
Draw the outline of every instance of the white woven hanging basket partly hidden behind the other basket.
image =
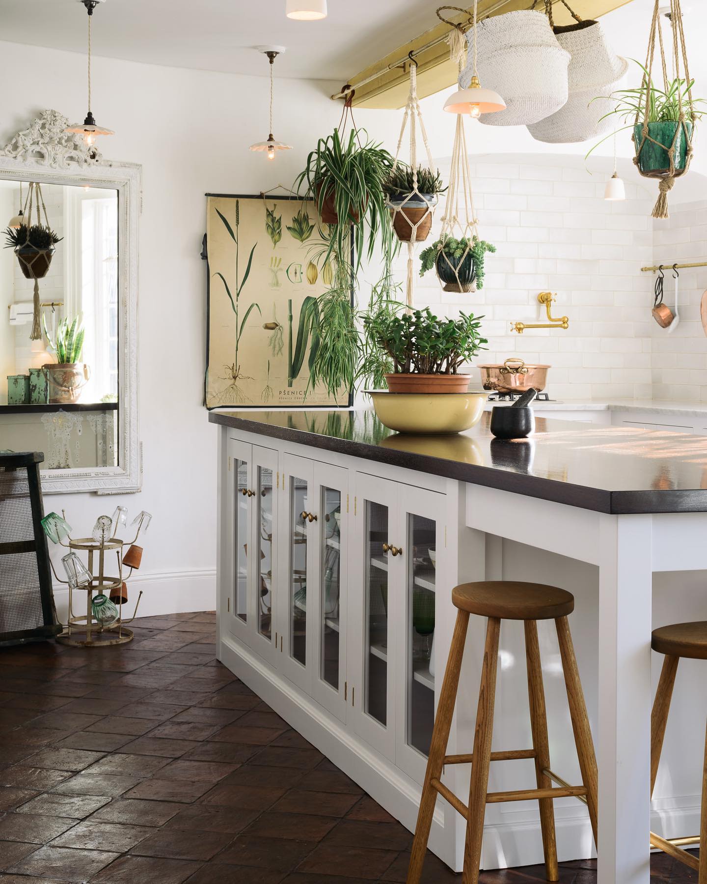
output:
[{"label": "white woven hanging basket partly hidden behind the other basket", "polygon": [[547,144],[589,141],[612,127],[612,118],[602,117],[612,110],[609,96],[627,72],[628,62],[612,51],[597,21],[556,27],[555,34],[562,49],[571,55],[567,103],[549,117],[532,123],[528,132],[536,141]]}]

